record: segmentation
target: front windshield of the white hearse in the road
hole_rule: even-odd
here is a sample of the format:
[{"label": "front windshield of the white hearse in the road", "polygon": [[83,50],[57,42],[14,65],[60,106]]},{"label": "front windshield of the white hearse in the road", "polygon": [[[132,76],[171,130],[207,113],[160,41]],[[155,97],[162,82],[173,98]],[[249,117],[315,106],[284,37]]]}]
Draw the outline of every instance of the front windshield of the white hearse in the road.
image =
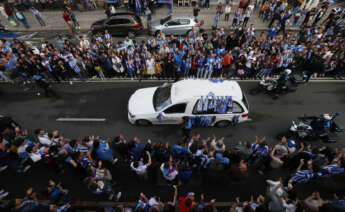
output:
[{"label": "front windshield of the white hearse in the road", "polygon": [[158,87],[153,94],[153,107],[156,111],[161,111],[163,108],[171,104],[171,84]]}]

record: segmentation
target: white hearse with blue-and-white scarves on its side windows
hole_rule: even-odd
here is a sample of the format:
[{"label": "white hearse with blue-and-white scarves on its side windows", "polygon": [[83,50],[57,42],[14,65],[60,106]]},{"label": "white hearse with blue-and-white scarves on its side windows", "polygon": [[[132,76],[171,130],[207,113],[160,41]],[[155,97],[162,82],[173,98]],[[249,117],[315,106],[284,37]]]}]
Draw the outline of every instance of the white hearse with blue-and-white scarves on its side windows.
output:
[{"label": "white hearse with blue-and-white scarves on its side windows", "polygon": [[138,89],[128,102],[132,124],[181,124],[226,127],[248,121],[249,106],[236,81],[188,79]]}]

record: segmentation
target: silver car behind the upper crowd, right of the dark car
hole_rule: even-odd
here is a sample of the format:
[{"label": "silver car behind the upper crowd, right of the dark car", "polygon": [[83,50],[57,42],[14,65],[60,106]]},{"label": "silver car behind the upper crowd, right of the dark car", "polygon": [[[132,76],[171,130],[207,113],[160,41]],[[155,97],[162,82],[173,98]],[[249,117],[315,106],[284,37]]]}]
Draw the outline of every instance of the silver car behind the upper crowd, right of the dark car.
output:
[{"label": "silver car behind the upper crowd, right of the dark car", "polygon": [[150,25],[150,33],[158,35],[163,32],[168,35],[187,35],[192,28],[198,30],[199,25],[192,15],[170,15],[160,20],[154,20]]}]

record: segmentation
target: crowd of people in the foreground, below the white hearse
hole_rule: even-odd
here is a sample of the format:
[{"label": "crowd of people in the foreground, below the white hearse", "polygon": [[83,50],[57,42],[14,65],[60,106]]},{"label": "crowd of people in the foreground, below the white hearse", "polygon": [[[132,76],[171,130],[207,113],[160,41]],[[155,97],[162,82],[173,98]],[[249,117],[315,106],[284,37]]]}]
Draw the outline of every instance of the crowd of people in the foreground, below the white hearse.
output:
[{"label": "crowd of people in the foreground, below the white hearse", "polygon": [[[70,139],[58,130],[37,129],[32,133],[6,116],[0,116],[0,132],[1,172],[11,169],[30,173],[34,166],[49,166],[58,174],[75,169],[90,192],[105,200],[123,201],[122,192],[126,189],[119,191],[119,183],[112,177],[116,172],[114,167],[122,163],[128,167],[127,172],[137,175],[140,183],[162,180],[175,190],[171,202],[163,203],[158,196],[148,198],[140,193],[135,208],[125,209],[119,205],[102,208],[105,211],[216,211],[215,199],[207,202],[204,194],[198,200],[193,192],[178,194],[178,187],[190,183],[193,176],[199,176],[202,183],[222,185],[229,180],[233,183],[247,181],[251,170],[264,174],[279,168],[289,170],[290,174],[267,180],[266,194],[256,199],[232,200],[234,205],[230,211],[331,212],[345,209],[345,200],[336,195],[327,201],[314,192],[300,200],[294,190],[297,184],[317,183],[321,178],[343,175],[345,148],[314,147],[285,137],[273,145],[268,145],[265,137],[256,137],[252,143],[239,142],[228,148],[224,137],[201,138],[198,133],[183,136],[176,144],[150,139],[144,143],[137,137],[126,139],[123,135],[113,139],[93,135]],[[1,207],[14,211],[48,211],[48,208],[49,211],[72,211],[73,205],[80,200],[73,197],[69,189],[60,182],[47,179],[43,194],[30,187],[24,198],[11,200]],[[0,191],[1,199],[7,195],[5,190]],[[49,199],[49,205],[41,204],[38,199]]]}]

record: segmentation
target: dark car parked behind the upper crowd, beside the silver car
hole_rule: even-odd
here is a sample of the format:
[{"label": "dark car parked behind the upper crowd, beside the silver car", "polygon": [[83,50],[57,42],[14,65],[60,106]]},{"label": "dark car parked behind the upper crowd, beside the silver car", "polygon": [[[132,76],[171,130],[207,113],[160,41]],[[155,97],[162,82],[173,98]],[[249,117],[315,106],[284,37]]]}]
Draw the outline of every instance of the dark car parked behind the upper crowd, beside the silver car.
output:
[{"label": "dark car parked behind the upper crowd, beside the silver car", "polygon": [[109,18],[96,21],[91,25],[93,34],[108,30],[112,35],[128,35],[134,37],[144,29],[139,16],[134,13],[115,13]]}]

